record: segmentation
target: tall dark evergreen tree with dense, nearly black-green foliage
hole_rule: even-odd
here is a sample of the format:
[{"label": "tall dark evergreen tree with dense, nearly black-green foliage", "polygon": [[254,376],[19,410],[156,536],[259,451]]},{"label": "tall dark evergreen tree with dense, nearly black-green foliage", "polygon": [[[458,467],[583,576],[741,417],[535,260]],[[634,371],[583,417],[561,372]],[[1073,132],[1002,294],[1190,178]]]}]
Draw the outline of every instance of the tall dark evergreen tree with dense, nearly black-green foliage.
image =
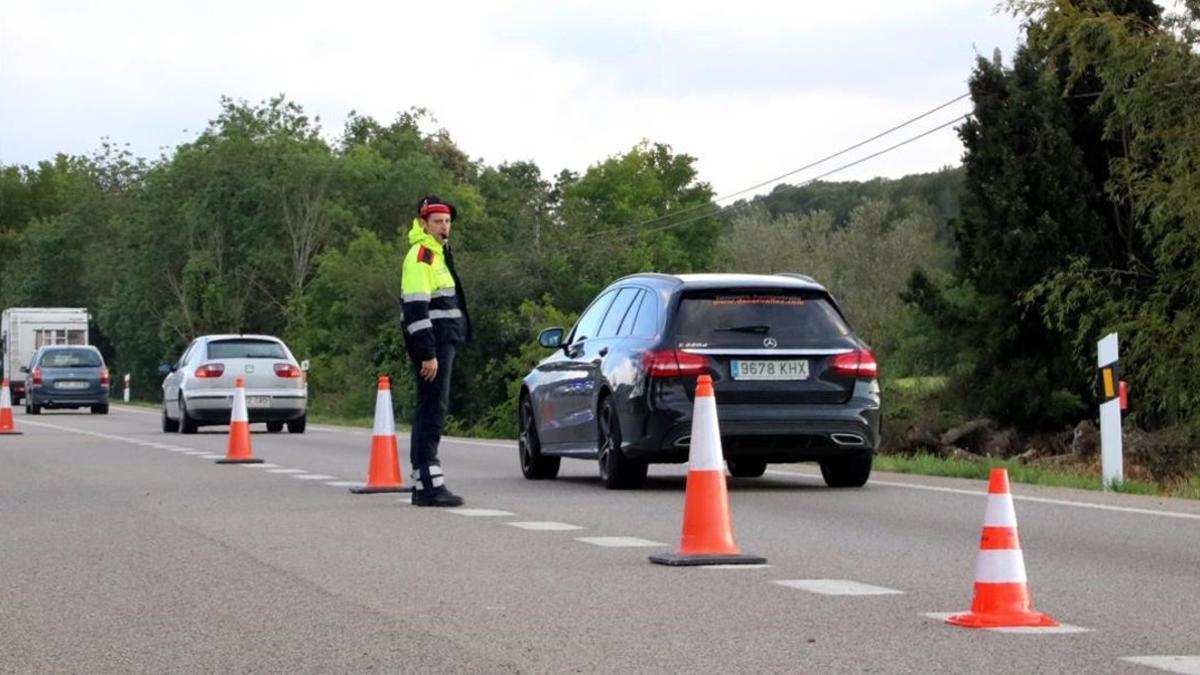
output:
[{"label": "tall dark evergreen tree with dense, nearly black-green foliage", "polygon": [[[1141,22],[1158,12],[1150,0],[1096,4]],[[1105,190],[1121,148],[1103,136],[1109,110],[1096,104],[1094,77],[1070,77],[1040,22],[1027,34],[1012,70],[980,59],[971,78],[955,277],[940,286],[914,275],[907,298],[960,353],[954,375],[967,405],[1048,428],[1085,410],[1092,369],[1073,358],[1073,331],[1044,321],[1027,292],[1072,256],[1108,267],[1129,213]]]}]

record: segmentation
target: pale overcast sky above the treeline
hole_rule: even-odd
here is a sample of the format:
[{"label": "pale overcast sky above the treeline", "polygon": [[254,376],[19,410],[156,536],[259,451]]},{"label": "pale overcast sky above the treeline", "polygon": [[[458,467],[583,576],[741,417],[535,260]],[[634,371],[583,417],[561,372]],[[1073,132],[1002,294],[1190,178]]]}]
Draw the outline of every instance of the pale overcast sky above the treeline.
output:
[{"label": "pale overcast sky above the treeline", "polygon": [[[991,0],[0,0],[0,163],[194,138],[222,95],[286,94],[330,138],[428,108],[472,157],[583,171],[641,139],[727,195],[966,91],[1018,20]],[[970,110],[961,101],[871,147]],[[830,177],[958,165],[946,129]]]}]

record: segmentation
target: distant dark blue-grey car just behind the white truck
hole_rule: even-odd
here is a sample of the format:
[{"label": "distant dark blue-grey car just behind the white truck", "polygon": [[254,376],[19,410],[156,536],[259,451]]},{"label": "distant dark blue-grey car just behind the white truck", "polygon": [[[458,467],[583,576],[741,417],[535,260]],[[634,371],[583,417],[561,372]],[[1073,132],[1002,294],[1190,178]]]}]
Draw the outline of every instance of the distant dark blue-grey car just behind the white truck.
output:
[{"label": "distant dark blue-grey car just behind the white truck", "polygon": [[108,414],[108,369],[96,347],[38,347],[29,368],[25,412],[89,407]]}]

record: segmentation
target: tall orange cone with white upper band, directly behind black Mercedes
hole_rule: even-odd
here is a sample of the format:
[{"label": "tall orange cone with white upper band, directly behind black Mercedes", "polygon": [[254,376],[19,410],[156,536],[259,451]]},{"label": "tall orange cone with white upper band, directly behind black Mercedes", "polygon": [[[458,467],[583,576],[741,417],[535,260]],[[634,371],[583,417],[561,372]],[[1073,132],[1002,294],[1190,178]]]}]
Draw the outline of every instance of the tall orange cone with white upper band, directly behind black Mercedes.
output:
[{"label": "tall orange cone with white upper band, directly behind black Mercedes", "polygon": [[743,555],[733,543],[730,497],[725,489],[725,456],[716,422],[713,378],[696,381],[688,450],[688,491],[683,507],[683,540],[673,554],[656,554],[650,562],[671,566],[757,565],[767,558]]}]

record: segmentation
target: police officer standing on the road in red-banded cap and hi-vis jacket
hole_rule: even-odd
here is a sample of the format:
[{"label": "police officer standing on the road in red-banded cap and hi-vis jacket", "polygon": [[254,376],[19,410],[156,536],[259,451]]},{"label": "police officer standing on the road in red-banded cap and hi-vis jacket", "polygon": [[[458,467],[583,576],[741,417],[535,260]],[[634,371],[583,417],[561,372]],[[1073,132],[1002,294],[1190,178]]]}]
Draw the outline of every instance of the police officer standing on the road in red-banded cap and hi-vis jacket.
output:
[{"label": "police officer standing on the road in red-banded cap and hi-vis jacket", "polygon": [[412,247],[401,271],[404,345],[416,372],[416,414],[413,419],[413,503],[456,507],[462,497],[445,486],[438,443],[450,407],[450,371],[455,348],[470,339],[470,317],[462,283],[450,252],[454,205],[436,195],[421,199],[413,228]]}]

